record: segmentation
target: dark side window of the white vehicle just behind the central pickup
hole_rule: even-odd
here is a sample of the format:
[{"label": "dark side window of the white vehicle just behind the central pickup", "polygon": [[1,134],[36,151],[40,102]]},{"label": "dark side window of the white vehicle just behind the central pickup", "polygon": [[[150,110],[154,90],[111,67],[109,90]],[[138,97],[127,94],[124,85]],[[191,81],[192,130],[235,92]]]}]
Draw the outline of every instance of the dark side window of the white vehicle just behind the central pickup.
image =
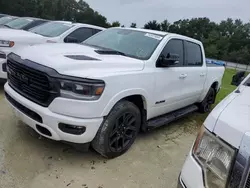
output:
[{"label": "dark side window of the white vehicle just behind the central pickup", "polygon": [[67,37],[77,39],[77,42],[83,42],[87,38],[93,35],[93,31],[91,28],[78,28],[72,33],[70,33]]}]

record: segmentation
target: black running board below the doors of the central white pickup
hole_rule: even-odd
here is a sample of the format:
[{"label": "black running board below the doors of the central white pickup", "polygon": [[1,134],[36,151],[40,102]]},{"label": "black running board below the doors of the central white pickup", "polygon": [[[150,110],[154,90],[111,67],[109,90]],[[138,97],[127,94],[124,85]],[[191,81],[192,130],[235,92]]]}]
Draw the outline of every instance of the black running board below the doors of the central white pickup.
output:
[{"label": "black running board below the doors of the central white pickup", "polygon": [[179,110],[176,110],[174,112],[170,112],[168,114],[153,118],[148,120],[147,122],[147,130],[152,130],[157,127],[161,127],[163,125],[167,125],[172,121],[175,121],[177,119],[182,118],[183,116],[186,116],[187,114],[190,114],[192,112],[195,112],[198,110],[198,107],[196,105],[187,106],[185,108],[181,108]]}]

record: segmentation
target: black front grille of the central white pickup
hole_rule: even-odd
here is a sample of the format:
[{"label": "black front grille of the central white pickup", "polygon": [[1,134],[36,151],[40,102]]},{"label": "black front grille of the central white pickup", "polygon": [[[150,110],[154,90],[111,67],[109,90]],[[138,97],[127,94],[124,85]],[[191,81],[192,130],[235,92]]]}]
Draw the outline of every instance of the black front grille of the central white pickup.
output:
[{"label": "black front grille of the central white pickup", "polygon": [[46,73],[11,58],[7,61],[7,75],[9,85],[16,92],[42,106],[48,106],[58,95]]}]

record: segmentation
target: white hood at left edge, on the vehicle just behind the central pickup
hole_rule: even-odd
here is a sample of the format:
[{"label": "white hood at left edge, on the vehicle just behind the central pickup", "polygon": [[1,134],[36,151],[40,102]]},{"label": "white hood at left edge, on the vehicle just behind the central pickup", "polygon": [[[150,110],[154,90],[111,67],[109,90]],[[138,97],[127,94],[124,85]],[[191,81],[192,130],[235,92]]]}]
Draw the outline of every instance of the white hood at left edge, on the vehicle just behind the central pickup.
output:
[{"label": "white hood at left edge, on the vehicle just behind the central pickup", "polygon": [[32,43],[33,40],[45,41],[48,38],[24,30],[0,28],[0,39],[11,40],[14,42],[19,42],[19,41],[27,42],[28,39],[31,39],[31,41],[29,42]]}]

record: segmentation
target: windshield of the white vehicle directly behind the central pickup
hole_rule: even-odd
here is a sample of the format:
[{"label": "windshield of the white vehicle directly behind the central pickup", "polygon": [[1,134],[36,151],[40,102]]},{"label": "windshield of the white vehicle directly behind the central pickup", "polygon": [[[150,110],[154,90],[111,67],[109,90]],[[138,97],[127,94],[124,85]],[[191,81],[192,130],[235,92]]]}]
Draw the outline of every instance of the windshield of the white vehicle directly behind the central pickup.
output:
[{"label": "windshield of the white vehicle directly behind the central pickup", "polygon": [[49,22],[32,28],[29,31],[45,37],[57,37],[63,34],[65,31],[69,30],[71,27],[73,27],[72,24]]}]

